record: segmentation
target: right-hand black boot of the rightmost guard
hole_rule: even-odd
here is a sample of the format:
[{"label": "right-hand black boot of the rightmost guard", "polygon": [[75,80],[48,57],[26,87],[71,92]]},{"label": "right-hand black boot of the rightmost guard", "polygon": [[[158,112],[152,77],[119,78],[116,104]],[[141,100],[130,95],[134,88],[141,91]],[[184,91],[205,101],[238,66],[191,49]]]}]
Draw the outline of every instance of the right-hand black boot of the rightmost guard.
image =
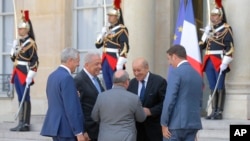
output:
[{"label": "right-hand black boot of the rightmost guard", "polygon": [[225,89],[218,90],[218,111],[214,116],[214,119],[216,120],[220,120],[223,118],[222,113],[224,108],[225,96],[226,96]]}]

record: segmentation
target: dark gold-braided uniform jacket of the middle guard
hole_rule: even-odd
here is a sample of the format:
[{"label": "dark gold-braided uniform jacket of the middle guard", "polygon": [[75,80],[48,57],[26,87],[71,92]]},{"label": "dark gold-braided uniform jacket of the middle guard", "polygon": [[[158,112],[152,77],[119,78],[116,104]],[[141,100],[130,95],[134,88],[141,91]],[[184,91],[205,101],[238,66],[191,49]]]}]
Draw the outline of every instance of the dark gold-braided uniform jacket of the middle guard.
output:
[{"label": "dark gold-braided uniform jacket of the middle guard", "polygon": [[95,45],[96,48],[103,46],[102,60],[107,59],[109,66],[115,70],[118,58],[126,58],[129,51],[128,29],[123,24],[110,26],[103,41]]}]

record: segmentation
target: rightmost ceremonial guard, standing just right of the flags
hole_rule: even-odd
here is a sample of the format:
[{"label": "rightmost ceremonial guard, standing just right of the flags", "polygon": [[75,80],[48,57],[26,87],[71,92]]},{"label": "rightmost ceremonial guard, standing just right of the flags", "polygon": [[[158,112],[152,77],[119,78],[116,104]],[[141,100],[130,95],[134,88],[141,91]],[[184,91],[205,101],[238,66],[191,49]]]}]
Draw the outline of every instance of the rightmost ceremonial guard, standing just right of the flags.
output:
[{"label": "rightmost ceremonial guard, standing just right of the flags", "polygon": [[[206,72],[211,89],[212,112],[206,119],[222,119],[226,96],[225,77],[230,71],[229,64],[233,60],[234,52],[232,28],[226,23],[226,16],[221,0],[215,0],[216,6],[211,10],[212,25],[205,28],[199,42],[205,50],[203,71]],[[217,84],[217,85],[216,85]]]}]

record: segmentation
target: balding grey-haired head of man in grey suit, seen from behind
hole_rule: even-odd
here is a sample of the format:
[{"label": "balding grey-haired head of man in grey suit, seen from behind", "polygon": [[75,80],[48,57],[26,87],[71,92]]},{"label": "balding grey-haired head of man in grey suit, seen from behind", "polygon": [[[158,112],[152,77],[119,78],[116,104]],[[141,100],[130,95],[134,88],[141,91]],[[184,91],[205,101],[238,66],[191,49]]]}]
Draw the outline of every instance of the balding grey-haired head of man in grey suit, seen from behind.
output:
[{"label": "balding grey-haired head of man in grey suit, seen from behind", "polygon": [[[120,73],[120,74],[118,74],[118,73]],[[113,75],[113,83],[114,84],[124,83],[127,80],[129,80],[129,75],[128,75],[128,72],[125,70],[116,71]]]}]

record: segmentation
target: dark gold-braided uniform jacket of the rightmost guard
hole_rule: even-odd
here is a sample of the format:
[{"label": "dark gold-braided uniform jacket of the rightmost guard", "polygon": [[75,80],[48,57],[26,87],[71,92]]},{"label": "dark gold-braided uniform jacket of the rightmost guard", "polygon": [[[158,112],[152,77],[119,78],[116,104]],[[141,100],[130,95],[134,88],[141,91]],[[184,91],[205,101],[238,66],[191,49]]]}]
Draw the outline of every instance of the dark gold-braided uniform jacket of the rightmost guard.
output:
[{"label": "dark gold-braided uniform jacket of the rightmost guard", "polygon": [[[205,70],[206,62],[210,59],[216,71],[219,72],[223,56],[232,56],[234,51],[231,27],[223,22],[213,26],[210,37],[205,43],[200,43],[200,46],[206,49],[202,70]],[[227,68],[228,71],[229,68]]]}]

